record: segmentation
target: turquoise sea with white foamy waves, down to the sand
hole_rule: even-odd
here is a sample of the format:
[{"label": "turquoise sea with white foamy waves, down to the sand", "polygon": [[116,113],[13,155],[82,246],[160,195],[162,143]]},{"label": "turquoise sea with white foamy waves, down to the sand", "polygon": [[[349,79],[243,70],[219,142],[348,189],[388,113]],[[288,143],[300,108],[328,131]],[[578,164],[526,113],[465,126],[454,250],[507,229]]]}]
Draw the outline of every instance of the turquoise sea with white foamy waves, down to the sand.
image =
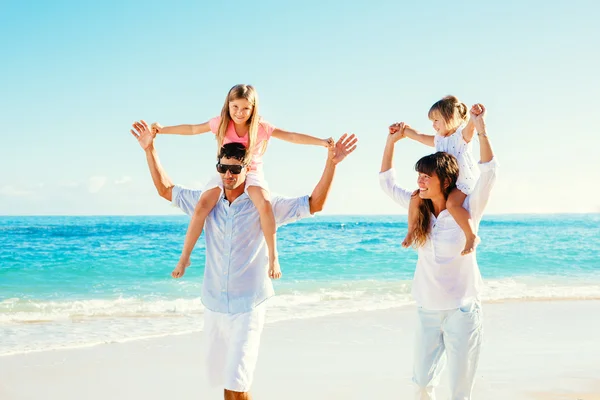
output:
[{"label": "turquoise sea with white foamy waves, down to the sand", "polygon": [[[203,239],[170,278],[188,218],[0,217],[0,355],[202,328]],[[316,217],[279,229],[269,321],[411,302],[405,216]],[[487,216],[484,298],[600,297],[600,214]]]}]

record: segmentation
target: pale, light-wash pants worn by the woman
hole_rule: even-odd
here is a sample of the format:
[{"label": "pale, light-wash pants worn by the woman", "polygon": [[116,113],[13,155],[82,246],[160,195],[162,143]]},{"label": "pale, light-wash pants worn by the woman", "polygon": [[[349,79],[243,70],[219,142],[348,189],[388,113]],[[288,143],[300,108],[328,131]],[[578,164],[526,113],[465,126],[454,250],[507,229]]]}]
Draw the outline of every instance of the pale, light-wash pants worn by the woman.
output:
[{"label": "pale, light-wash pants worn by the woman", "polygon": [[481,303],[443,311],[419,307],[418,314],[413,369],[416,398],[435,400],[434,389],[447,360],[450,399],[471,399],[483,337]]}]

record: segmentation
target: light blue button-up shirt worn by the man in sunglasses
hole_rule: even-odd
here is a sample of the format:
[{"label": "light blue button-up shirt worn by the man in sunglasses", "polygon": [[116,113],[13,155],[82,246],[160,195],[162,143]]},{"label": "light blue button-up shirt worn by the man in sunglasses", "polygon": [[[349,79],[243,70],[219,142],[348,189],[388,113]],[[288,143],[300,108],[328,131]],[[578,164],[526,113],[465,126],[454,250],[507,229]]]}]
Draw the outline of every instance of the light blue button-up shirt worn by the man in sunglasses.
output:
[{"label": "light blue button-up shirt worn by the man in sunglasses", "polygon": [[[192,216],[201,190],[173,187],[172,203]],[[308,196],[273,197],[277,225],[310,216]],[[246,193],[231,205],[223,194],[204,224],[206,265],[202,304],[209,310],[248,312],[273,296],[268,277],[269,257],[260,216]]]}]

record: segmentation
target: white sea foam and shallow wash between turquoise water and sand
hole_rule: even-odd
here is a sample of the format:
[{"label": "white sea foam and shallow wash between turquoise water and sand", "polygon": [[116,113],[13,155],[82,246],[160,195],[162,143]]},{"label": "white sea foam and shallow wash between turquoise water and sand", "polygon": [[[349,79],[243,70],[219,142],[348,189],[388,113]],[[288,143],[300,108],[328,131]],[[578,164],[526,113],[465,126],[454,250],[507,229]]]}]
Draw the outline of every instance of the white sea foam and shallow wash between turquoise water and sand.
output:
[{"label": "white sea foam and shallow wash between turquoise water and sand", "polygon": [[[485,281],[484,301],[598,299],[600,279],[520,277]],[[278,287],[268,323],[412,303],[410,281],[297,282]],[[0,302],[0,355],[91,346],[202,329],[200,298]]]}]

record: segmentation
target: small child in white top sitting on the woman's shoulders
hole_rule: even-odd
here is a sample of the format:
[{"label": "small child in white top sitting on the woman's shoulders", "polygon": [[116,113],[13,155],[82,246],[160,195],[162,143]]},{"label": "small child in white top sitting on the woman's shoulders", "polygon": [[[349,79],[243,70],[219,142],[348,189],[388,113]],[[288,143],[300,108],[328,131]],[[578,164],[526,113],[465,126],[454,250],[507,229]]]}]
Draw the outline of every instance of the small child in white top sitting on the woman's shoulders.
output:
[{"label": "small child in white top sitting on the woman's shoulders", "polygon": [[[479,106],[475,105],[474,107]],[[477,109],[475,112],[481,112],[481,110]],[[466,255],[472,253],[480,241],[475,235],[469,212],[462,207],[467,195],[473,191],[478,175],[471,146],[474,133],[473,122],[468,118],[466,104],[454,96],[446,96],[433,104],[429,109],[428,116],[433,122],[436,135],[419,133],[406,124],[404,125],[404,135],[427,146],[435,147],[437,151],[443,151],[456,157],[459,176],[456,189],[452,190],[448,197],[447,207],[450,215],[465,233],[465,246],[461,254]],[[398,123],[390,126],[390,133],[397,131],[398,126]],[[403,247],[423,244],[419,240],[419,237],[423,236],[422,232],[415,231],[419,229],[417,211],[420,203],[419,196],[413,196],[408,209],[408,233],[402,241]]]}]

